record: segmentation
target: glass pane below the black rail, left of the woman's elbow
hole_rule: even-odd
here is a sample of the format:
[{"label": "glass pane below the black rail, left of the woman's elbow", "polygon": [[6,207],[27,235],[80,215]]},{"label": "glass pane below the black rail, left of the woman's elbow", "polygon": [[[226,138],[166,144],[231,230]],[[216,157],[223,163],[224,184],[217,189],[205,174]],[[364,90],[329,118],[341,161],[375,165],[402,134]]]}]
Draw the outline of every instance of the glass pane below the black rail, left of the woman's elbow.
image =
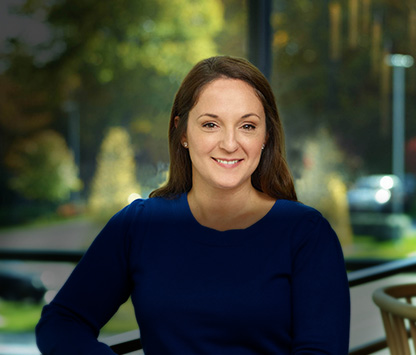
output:
[{"label": "glass pane below the black rail, left of the woman's elbow", "polygon": [[39,353],[34,327],[43,305],[56,294],[73,267],[64,262],[0,262],[0,354]]}]

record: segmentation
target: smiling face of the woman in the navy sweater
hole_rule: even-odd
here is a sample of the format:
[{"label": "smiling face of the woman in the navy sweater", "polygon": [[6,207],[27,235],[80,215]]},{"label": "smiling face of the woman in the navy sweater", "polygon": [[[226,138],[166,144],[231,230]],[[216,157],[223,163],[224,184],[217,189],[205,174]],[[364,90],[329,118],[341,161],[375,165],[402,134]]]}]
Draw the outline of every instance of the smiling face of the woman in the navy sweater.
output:
[{"label": "smiling face of the woman in the navy sweater", "polygon": [[193,188],[252,188],[266,143],[266,118],[254,89],[235,79],[203,88],[182,138],[192,161]]}]

